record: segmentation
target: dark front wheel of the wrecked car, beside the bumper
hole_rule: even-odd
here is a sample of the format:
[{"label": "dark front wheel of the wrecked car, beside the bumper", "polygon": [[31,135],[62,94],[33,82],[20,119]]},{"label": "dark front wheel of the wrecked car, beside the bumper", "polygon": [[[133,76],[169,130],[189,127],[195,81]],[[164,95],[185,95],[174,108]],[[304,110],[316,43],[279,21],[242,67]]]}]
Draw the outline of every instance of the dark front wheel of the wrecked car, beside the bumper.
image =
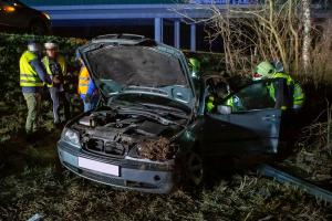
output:
[{"label": "dark front wheel of the wrecked car, beside the bumper", "polygon": [[186,179],[187,182],[199,186],[204,180],[204,165],[201,157],[191,151],[186,157]]}]

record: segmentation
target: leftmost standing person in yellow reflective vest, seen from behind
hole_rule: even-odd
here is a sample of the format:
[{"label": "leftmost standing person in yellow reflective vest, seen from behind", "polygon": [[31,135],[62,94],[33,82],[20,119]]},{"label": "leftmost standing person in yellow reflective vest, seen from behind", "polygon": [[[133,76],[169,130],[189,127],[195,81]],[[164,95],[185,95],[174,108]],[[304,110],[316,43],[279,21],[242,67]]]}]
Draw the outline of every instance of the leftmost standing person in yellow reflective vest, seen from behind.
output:
[{"label": "leftmost standing person in yellow reflective vest, seen from behind", "polygon": [[25,131],[31,138],[38,128],[38,117],[41,104],[43,84],[51,84],[52,80],[41,63],[42,46],[38,42],[30,42],[28,50],[20,57],[20,86],[28,106]]}]

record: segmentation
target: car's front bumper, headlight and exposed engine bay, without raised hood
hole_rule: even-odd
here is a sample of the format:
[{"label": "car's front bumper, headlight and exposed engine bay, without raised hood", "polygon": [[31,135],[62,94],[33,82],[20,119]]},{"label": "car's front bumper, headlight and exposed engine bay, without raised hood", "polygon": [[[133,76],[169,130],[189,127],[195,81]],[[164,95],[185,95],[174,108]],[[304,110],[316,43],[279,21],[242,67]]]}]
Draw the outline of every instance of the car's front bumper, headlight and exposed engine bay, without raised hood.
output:
[{"label": "car's front bumper, headlight and exposed engine bay, without raised hood", "polygon": [[180,125],[163,125],[144,114],[100,110],[68,126],[58,144],[61,162],[105,185],[168,193],[177,182],[178,146],[169,135]]}]

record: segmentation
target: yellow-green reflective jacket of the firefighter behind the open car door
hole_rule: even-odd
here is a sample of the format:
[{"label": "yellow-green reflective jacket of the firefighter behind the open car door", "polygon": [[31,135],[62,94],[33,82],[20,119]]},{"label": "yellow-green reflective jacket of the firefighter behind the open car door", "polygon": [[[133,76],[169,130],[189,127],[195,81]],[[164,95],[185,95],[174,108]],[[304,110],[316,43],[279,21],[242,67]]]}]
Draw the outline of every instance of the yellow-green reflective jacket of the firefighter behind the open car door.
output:
[{"label": "yellow-green reflective jacket of the firefighter behind the open car door", "polygon": [[[303,106],[304,99],[305,99],[305,95],[300,86],[299,83],[295,83],[292,77],[286,73],[282,72],[277,72],[274,73],[271,78],[286,78],[287,81],[287,85],[293,87],[293,108],[300,108]],[[274,97],[274,87],[273,86],[269,86],[269,92],[270,92],[270,96]],[[281,107],[282,109],[286,109],[287,107]]]}]

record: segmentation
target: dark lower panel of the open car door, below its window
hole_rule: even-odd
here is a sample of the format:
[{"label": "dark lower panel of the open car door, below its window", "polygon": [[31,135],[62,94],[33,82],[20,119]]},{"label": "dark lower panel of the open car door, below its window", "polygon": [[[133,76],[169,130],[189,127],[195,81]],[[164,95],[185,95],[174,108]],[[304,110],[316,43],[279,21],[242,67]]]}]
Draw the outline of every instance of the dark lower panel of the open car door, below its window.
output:
[{"label": "dark lower panel of the open car door, below its window", "polygon": [[251,110],[230,115],[207,115],[205,131],[208,155],[276,154],[281,110]]}]

